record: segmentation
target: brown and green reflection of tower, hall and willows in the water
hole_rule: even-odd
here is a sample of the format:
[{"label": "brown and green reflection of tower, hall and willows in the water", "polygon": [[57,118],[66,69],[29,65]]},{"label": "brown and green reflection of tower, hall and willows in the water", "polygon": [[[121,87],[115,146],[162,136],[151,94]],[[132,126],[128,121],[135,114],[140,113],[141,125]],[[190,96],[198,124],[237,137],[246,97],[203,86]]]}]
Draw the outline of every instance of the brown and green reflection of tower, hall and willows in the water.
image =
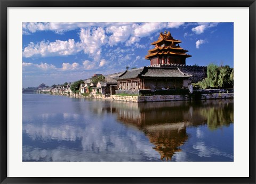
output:
[{"label": "brown and green reflection of tower, hall and willows in the water", "polygon": [[[121,103],[102,107],[102,111],[116,113],[118,121],[145,132],[161,160],[171,160],[180,146],[188,139],[186,127],[202,126],[207,123],[210,130],[229,126],[234,121],[233,100],[201,102],[154,102]],[[203,132],[197,129],[196,136]],[[204,143],[195,146],[207,154]]]}]

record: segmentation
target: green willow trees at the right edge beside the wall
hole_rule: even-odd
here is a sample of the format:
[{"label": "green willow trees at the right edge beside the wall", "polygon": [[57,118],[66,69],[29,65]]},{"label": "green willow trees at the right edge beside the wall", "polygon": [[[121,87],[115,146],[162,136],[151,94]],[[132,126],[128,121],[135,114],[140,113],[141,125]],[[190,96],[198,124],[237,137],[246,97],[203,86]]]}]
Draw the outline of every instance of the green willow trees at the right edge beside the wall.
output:
[{"label": "green willow trees at the right edge beside the wall", "polygon": [[209,64],[207,66],[207,78],[194,83],[195,87],[207,88],[233,88],[234,69],[226,66]]}]

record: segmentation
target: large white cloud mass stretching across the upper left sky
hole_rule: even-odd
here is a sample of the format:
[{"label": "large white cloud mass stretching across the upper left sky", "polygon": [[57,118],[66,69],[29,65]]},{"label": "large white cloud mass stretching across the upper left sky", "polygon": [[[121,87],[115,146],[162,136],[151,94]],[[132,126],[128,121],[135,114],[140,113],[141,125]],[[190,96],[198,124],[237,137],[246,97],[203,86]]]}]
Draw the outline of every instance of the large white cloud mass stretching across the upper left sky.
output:
[{"label": "large white cloud mass stretching across the upper left sky", "polygon": [[179,28],[183,24],[183,22],[25,22],[22,24],[23,34],[46,30],[63,34],[68,30],[78,28],[81,30],[78,42],[74,39],[31,42],[23,49],[22,54],[23,57],[67,56],[83,51],[98,62],[103,48],[119,43],[145,48],[138,43],[142,37],[166,28]]}]

